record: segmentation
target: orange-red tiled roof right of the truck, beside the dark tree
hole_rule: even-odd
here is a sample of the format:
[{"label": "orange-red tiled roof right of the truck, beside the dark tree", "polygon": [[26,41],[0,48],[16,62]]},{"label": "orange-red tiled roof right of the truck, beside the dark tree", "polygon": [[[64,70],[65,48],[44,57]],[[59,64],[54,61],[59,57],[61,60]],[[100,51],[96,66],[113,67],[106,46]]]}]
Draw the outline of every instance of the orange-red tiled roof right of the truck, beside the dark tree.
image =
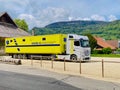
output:
[{"label": "orange-red tiled roof right of the truck, beside the dark tree", "polygon": [[97,44],[101,46],[102,48],[111,48],[112,50],[115,50],[116,48],[110,44],[108,44],[104,39],[98,36],[94,36],[94,38],[97,40]]}]

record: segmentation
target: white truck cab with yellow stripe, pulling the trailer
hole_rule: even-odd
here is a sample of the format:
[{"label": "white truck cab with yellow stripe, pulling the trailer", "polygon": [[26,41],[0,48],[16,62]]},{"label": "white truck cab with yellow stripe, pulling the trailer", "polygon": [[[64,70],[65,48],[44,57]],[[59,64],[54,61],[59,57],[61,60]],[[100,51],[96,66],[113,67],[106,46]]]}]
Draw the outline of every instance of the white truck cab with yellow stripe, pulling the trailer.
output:
[{"label": "white truck cab with yellow stripe, pulling the trailer", "polygon": [[87,36],[68,34],[66,39],[66,55],[58,55],[58,58],[68,60],[90,60],[91,49]]}]

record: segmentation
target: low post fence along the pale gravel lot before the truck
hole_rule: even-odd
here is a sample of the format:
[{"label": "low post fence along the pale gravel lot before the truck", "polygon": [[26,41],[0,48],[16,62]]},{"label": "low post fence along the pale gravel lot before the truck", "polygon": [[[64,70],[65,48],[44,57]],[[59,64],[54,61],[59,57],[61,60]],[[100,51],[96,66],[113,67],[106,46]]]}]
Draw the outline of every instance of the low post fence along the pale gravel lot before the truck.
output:
[{"label": "low post fence along the pale gravel lot before the truck", "polygon": [[[90,60],[90,61],[68,61],[68,60],[33,60],[31,57],[31,66],[44,67],[47,69],[54,69],[63,72],[79,73],[87,75],[96,75],[100,77],[114,77],[120,78],[120,62],[106,61],[106,60]],[[42,58],[42,57],[41,57]],[[51,57],[49,57],[51,58]],[[27,61],[28,62],[28,61]]]}]

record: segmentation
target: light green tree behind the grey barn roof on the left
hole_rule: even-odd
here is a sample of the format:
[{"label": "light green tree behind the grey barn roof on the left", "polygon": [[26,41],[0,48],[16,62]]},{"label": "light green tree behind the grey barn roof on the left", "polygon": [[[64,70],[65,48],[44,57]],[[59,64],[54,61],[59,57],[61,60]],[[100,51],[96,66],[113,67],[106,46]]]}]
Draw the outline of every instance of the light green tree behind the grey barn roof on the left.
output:
[{"label": "light green tree behind the grey barn roof on the left", "polygon": [[16,25],[25,30],[25,31],[28,31],[28,24],[26,23],[26,21],[24,19],[15,19],[14,22],[16,23]]}]

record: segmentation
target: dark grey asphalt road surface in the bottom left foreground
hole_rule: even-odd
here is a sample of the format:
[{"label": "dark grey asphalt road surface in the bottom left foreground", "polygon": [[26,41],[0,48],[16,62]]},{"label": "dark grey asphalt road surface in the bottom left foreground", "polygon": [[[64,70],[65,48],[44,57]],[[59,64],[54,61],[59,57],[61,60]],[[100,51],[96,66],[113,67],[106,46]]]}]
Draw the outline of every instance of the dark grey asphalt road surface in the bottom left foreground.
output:
[{"label": "dark grey asphalt road surface in the bottom left foreground", "polygon": [[54,78],[0,71],[0,90],[82,90]]}]

